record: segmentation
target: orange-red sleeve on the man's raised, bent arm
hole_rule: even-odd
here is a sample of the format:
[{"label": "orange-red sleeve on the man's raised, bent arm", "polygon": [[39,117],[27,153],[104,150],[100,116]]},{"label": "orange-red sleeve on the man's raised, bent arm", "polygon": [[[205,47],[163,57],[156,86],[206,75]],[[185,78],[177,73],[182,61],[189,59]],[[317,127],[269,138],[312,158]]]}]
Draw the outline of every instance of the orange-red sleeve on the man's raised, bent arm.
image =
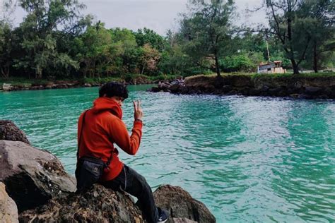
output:
[{"label": "orange-red sleeve on the man's raised, bent arm", "polygon": [[131,135],[127,131],[126,125],[121,119],[114,119],[110,125],[110,135],[117,145],[129,155],[135,155],[139,150],[142,137],[141,121],[134,121]]}]

